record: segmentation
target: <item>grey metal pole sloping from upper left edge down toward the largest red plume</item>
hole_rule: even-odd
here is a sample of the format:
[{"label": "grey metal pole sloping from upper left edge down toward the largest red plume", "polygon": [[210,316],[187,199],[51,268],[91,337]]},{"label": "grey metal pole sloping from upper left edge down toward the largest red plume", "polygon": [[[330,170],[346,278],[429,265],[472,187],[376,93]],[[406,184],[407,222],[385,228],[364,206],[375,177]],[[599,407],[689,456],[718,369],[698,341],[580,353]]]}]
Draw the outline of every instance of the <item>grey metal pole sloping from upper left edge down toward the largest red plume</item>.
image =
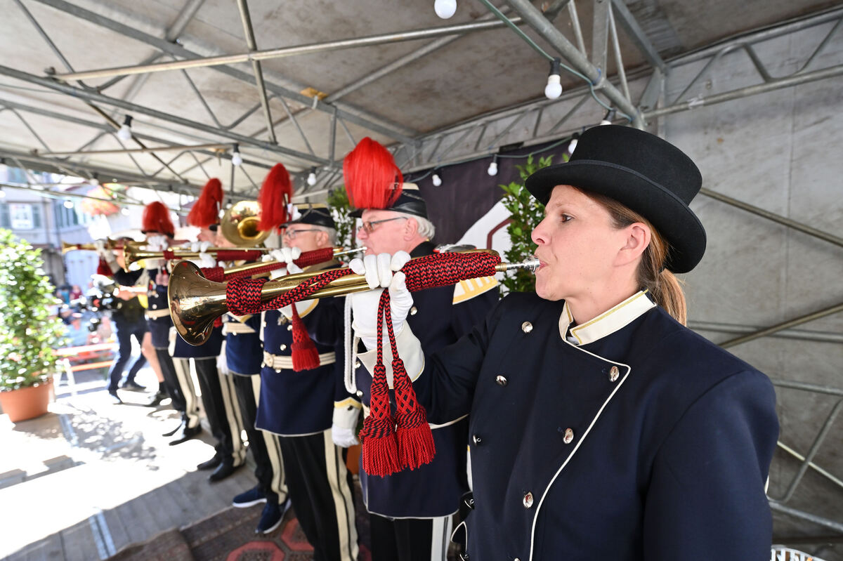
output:
[{"label": "grey metal pole sloping from upper left edge down toward the largest red plume", "polygon": [[304,152],[298,152],[298,150],[280,147],[276,144],[271,144],[270,142],[259,141],[254,138],[251,138],[250,136],[237,134],[236,132],[223,131],[213,126],[205,125],[204,123],[198,123],[193,120],[184,119],[177,115],[169,115],[166,113],[162,113],[161,111],[152,110],[142,105],[132,104],[122,99],[110,98],[109,96],[103,95],[102,93],[94,93],[80,88],[74,88],[65,83],[58,83],[49,78],[34,76],[27,72],[15,70],[14,68],[0,66],[0,74],[8,77],[17,78],[23,82],[35,83],[44,88],[50,88],[62,93],[67,93],[68,95],[72,95],[76,98],[88,99],[97,103],[120,107],[123,110],[132,111],[133,113],[140,113],[142,115],[148,115],[155,119],[169,121],[171,123],[174,123],[175,125],[185,126],[196,131],[203,131],[211,133],[213,135],[225,136],[231,138],[234,141],[239,142],[240,144],[263,148],[269,152],[285,154],[287,156],[292,156],[293,158],[302,159],[305,162],[318,163],[320,165],[325,165],[328,163],[328,160],[326,160],[325,158],[314,157]]}]

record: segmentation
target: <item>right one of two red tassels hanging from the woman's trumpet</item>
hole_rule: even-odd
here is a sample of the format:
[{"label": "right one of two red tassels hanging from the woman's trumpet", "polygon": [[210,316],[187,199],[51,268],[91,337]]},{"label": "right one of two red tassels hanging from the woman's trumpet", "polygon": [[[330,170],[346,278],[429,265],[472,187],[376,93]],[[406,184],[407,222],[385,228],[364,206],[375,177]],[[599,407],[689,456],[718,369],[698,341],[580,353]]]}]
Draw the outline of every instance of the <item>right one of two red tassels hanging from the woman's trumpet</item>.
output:
[{"label": "right one of two red tassels hanging from the woman's trumpet", "polygon": [[395,403],[398,405],[395,414],[395,423],[398,425],[395,431],[398,437],[398,457],[403,467],[420,468],[432,462],[433,456],[436,455],[433,433],[427,424],[427,411],[416,400],[416,391],[407,376],[404,361],[400,358],[392,361],[392,372]]}]

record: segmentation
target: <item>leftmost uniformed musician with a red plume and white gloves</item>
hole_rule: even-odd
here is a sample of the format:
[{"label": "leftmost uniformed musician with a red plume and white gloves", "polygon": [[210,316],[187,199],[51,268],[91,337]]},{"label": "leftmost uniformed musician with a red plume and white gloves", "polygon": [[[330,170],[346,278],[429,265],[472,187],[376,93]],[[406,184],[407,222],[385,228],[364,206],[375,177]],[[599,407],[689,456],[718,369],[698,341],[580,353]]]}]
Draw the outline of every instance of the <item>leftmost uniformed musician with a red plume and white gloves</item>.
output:
[{"label": "leftmost uniformed musician with a red plume and white gloves", "polygon": [[[169,241],[175,238],[175,227],[169,219],[169,210],[163,203],[153,201],[143,209],[142,232],[147,236],[148,251],[164,251]],[[196,391],[190,379],[180,382],[173,359],[169,352],[169,332],[173,320],[169,317],[167,284],[169,274],[164,259],[146,259],[145,269],[126,272],[112,266],[114,277],[122,286],[133,286],[140,282],[147,293],[147,322],[152,336],[152,345],[158,358],[158,366],[164,376],[164,387],[172,400],[173,409],[181,414],[180,424],[168,430],[164,436],[174,436],[170,445],[180,444],[194,438],[201,432]]]}]

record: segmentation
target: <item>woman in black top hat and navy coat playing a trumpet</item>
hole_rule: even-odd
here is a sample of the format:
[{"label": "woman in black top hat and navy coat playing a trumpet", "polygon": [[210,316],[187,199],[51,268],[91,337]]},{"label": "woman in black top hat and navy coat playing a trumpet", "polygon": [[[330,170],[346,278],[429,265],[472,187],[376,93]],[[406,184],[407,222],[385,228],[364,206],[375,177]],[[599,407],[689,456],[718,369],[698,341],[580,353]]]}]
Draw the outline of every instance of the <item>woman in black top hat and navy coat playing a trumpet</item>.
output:
[{"label": "woman in black top hat and navy coat playing a trumpet", "polygon": [[[657,136],[599,126],[526,186],[545,204],[536,293],[435,355],[397,337],[428,419],[470,413],[466,557],[769,558],[771,382],[685,328],[673,275],[706,246],[688,207],[699,170]],[[380,269],[371,284],[405,290]],[[377,296],[355,295],[355,316]]]}]

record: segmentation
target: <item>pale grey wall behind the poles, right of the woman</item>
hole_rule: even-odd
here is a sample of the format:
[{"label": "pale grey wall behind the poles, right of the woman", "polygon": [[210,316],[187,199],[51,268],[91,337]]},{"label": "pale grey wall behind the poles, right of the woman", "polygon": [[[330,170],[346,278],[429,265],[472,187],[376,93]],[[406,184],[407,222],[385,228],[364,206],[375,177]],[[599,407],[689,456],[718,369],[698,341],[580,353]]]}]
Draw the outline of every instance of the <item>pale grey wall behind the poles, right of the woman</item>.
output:
[{"label": "pale grey wall behind the poles, right of the woman", "polygon": [[[773,76],[797,71],[830,29],[808,29],[761,45]],[[838,32],[812,67],[843,60]],[[701,63],[667,81],[672,100]],[[735,52],[717,65],[694,95],[757,83],[748,56]],[[806,83],[711,107],[668,115],[658,123],[668,141],[689,153],[710,190],[749,202],[843,237],[843,77]],[[701,264],[685,275],[691,321],[770,326],[843,302],[843,248],[779,226],[706,196],[692,204],[708,232]],[[843,334],[843,313],[800,329]],[[701,331],[722,342],[734,334]],[[730,349],[771,378],[843,389],[843,344],[765,338]],[[840,398],[777,388],[780,441],[805,455]],[[843,420],[832,425],[814,462],[843,478]],[[798,462],[780,451],[770,496],[784,492]],[[843,524],[843,489],[809,470],[787,505]],[[829,528],[776,515],[778,536],[830,534]],[[840,546],[838,546],[841,550]],[[825,559],[843,553],[817,553]]]}]

